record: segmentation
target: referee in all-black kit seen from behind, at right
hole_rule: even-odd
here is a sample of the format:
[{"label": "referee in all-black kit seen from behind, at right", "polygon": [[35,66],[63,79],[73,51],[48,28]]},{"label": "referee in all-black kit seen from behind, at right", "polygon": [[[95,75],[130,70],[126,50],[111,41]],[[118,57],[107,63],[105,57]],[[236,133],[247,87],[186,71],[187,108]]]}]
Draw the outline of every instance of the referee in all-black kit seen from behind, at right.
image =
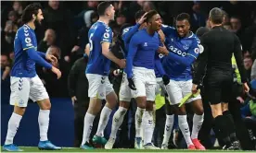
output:
[{"label": "referee in all-black kit seen from behind, at right", "polygon": [[222,26],[224,12],[220,8],[211,9],[209,20],[211,31],[201,37],[204,52],[198,61],[196,75],[193,78],[192,92],[196,93],[198,91],[198,84],[205,75],[206,68],[206,75],[203,80],[205,96],[211,104],[215,126],[224,138],[224,149],[239,149],[235,124],[233,118],[229,117],[228,101],[232,99],[232,53],[234,53],[237,61],[244,90],[246,92],[250,90],[246,83],[241,44],[236,34]]}]

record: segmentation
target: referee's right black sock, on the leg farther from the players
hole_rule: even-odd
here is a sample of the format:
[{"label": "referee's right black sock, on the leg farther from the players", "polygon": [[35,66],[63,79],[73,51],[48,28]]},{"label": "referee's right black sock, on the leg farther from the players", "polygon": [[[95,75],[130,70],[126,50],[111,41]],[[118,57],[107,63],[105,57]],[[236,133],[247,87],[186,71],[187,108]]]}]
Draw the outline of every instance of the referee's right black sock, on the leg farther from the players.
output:
[{"label": "referee's right black sock, on the leg farther from the players", "polygon": [[228,132],[229,132],[229,136],[230,136],[230,140],[231,142],[235,142],[237,141],[237,135],[236,135],[236,128],[235,128],[235,123],[233,120],[233,117],[231,115],[231,113],[229,111],[225,111],[223,112],[225,118],[226,118],[226,124],[228,125]]}]

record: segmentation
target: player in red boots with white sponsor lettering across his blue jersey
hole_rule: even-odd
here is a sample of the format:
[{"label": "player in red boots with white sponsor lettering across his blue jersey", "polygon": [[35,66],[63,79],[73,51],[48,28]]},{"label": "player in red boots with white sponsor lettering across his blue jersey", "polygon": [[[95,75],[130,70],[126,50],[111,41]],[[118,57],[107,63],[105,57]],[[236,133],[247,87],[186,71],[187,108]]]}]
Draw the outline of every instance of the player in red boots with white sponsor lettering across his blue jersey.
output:
[{"label": "player in red boots with white sponsor lettering across his blue jersey", "polygon": [[[189,18],[189,15],[186,13],[178,15],[176,18],[176,29],[162,26],[162,30],[166,36],[165,44],[170,52],[165,47],[160,47],[160,53],[165,55],[162,60],[162,65],[171,79],[166,89],[174,107],[177,107],[180,101],[191,92],[191,65],[197,59],[201,49],[198,38],[189,31]],[[198,141],[198,131],[203,123],[203,107],[200,95],[187,100],[187,103],[189,102],[191,102],[193,111],[195,112],[191,137],[186,121],[185,106],[182,106],[178,109],[179,111],[176,112],[178,114],[179,127],[186,139],[186,144],[189,149],[205,149]],[[173,117],[174,115],[167,117],[169,122],[166,122],[167,124],[165,125],[166,128],[161,148],[167,148],[170,133],[173,128]],[[167,130],[167,127],[170,127],[171,130]]]}]

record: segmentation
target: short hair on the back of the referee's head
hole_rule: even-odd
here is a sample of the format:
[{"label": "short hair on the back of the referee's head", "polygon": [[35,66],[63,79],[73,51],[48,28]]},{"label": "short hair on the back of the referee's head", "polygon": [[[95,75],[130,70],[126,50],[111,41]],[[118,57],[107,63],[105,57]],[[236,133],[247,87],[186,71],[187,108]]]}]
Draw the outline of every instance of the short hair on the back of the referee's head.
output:
[{"label": "short hair on the back of the referee's head", "polygon": [[218,7],[214,7],[210,11],[210,18],[213,24],[222,24],[224,21],[224,11]]}]

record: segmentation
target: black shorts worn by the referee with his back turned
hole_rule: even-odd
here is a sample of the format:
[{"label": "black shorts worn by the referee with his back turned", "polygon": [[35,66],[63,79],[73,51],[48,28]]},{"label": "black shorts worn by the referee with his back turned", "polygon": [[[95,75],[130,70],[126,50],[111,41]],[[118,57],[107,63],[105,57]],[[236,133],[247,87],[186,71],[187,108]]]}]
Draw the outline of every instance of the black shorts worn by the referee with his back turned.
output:
[{"label": "black shorts worn by the referee with his back turned", "polygon": [[205,97],[211,105],[232,100],[233,76],[231,72],[214,71],[204,79]]}]

